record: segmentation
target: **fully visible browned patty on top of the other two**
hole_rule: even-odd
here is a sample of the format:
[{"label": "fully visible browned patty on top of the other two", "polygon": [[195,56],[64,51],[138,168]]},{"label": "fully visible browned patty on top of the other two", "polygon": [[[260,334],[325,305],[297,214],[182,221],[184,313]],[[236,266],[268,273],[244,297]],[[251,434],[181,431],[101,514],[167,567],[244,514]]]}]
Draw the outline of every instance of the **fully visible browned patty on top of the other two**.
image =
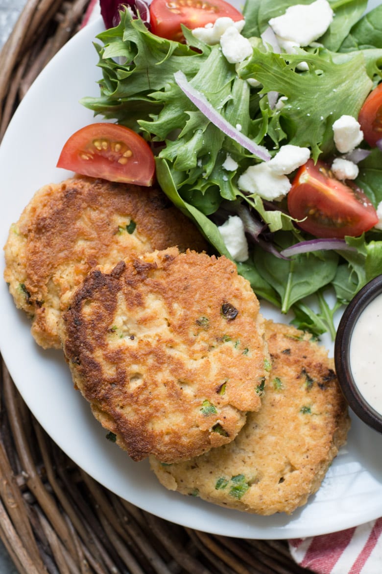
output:
[{"label": "fully visible browned patty on top of the other two", "polygon": [[63,319],[75,385],[134,460],[229,443],[260,407],[264,321],[225,257],[174,247],[94,270]]}]

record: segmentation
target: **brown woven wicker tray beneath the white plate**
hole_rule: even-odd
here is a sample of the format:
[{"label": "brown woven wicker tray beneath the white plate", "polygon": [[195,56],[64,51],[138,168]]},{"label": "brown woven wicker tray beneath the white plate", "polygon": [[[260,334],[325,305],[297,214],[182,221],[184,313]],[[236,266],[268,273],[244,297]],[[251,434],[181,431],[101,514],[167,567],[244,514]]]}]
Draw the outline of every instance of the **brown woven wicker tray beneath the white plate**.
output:
[{"label": "brown woven wicker tray beneath the white plate", "polygon": [[[0,53],[0,140],[89,0],[28,0]],[[2,364],[0,537],[21,574],[308,574],[285,541],[212,536],[141,511],[46,435]]]}]

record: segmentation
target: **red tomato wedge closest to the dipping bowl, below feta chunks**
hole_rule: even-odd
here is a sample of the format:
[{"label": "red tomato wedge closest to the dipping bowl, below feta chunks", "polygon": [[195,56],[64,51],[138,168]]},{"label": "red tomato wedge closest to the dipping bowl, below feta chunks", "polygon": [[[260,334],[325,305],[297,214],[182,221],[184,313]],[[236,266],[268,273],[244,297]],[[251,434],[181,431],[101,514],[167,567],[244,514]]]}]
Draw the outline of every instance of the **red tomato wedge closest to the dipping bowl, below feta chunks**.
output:
[{"label": "red tomato wedge closest to the dipping bowl, below feta chunks", "polygon": [[288,193],[288,210],[304,231],[316,237],[357,237],[378,222],[376,210],[356,186],[333,177],[327,165],[308,160],[301,166]]}]

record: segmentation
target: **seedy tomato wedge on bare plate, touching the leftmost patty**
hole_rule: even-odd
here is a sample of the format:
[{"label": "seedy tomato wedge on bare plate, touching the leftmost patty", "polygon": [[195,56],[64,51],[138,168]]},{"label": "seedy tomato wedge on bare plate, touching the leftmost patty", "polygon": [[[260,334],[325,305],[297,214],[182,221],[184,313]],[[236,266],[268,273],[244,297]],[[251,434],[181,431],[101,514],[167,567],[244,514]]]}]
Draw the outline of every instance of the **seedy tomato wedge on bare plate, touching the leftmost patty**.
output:
[{"label": "seedy tomato wedge on bare plate, touching the leftmost patty", "polygon": [[84,176],[136,185],[151,185],[155,160],[147,142],[135,131],[115,123],[91,123],[70,136],[58,168]]}]

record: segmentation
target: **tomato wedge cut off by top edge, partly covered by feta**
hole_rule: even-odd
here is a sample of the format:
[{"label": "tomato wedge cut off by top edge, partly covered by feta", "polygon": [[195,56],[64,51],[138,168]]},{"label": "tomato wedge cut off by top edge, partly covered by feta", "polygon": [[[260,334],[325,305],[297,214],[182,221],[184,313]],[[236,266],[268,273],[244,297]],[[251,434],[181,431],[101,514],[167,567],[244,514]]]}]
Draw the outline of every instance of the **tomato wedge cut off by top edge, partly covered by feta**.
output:
[{"label": "tomato wedge cut off by top edge, partly covered by feta", "polygon": [[183,40],[180,24],[191,30],[203,28],[222,16],[234,22],[243,20],[243,15],[224,0],[152,0],[150,5],[151,32],[178,42]]}]

